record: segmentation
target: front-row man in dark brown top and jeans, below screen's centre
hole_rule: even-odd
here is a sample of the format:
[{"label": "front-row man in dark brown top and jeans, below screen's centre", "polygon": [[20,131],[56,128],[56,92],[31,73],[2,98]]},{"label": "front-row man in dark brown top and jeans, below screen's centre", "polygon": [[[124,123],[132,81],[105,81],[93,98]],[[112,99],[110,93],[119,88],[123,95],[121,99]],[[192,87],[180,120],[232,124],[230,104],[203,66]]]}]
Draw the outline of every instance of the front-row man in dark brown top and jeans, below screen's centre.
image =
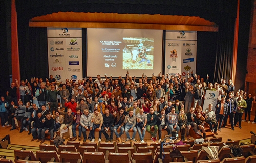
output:
[{"label": "front-row man in dark brown top and jeans, below screen's centre", "polygon": [[[122,142],[121,140],[121,135],[123,134],[123,131],[124,131],[124,118],[125,118],[125,115],[123,114],[124,110],[123,108],[121,107],[119,112],[118,113],[114,113],[113,116],[114,116],[114,133],[117,137],[117,142]],[[120,129],[120,133],[117,132],[117,129]]]}]

